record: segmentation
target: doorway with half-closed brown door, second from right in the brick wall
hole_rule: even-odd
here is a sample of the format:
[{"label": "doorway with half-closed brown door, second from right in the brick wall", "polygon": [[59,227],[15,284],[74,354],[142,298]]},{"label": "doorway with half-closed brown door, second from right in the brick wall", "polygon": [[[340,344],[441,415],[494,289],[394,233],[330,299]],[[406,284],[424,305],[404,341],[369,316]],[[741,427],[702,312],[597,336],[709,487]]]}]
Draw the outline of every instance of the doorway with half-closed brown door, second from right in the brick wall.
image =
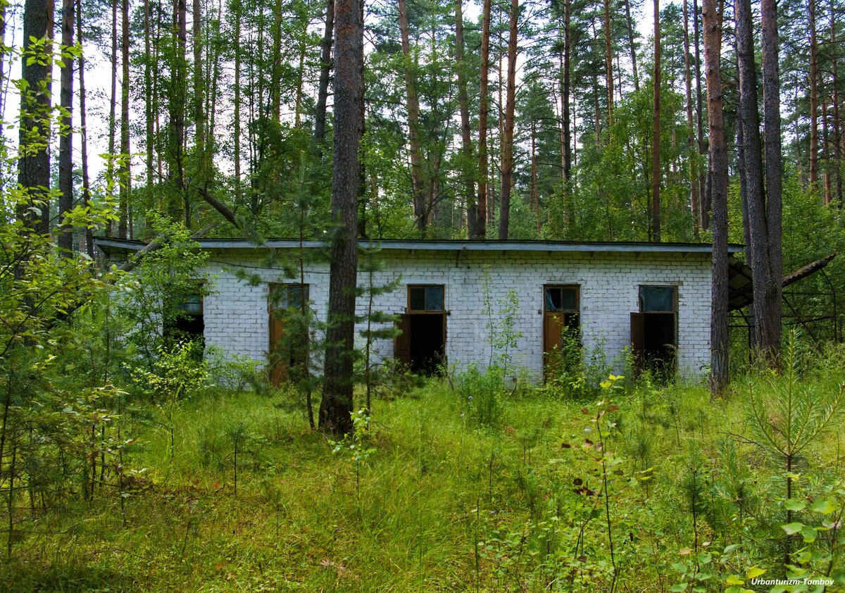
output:
[{"label": "doorway with half-closed brown door, second from right in the brick wall", "polygon": [[579,286],[543,286],[542,352],[546,375],[571,370],[581,361]]}]

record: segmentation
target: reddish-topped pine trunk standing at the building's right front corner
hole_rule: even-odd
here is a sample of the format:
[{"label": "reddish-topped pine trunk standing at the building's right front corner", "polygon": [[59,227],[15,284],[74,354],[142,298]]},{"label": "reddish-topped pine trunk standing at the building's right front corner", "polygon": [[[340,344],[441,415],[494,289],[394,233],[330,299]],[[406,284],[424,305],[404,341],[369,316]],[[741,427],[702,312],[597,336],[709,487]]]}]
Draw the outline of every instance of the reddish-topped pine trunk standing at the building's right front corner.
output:
[{"label": "reddish-topped pine trunk standing at the building's right front corner", "polygon": [[722,105],[722,10],[719,0],[703,0],[704,63],[713,231],[710,315],[710,388],[715,397],[728,384],[728,149]]}]

